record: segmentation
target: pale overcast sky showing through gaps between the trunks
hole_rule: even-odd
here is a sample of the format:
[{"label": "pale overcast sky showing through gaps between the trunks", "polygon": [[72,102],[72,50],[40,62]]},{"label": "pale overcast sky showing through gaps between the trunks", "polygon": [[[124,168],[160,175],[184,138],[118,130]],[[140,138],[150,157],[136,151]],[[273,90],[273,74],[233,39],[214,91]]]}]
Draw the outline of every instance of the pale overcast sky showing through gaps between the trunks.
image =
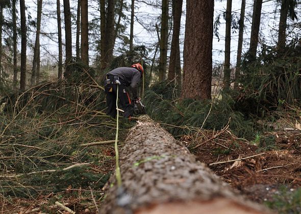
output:
[{"label": "pale overcast sky showing through gaps between the trunks", "polygon": [[[125,0],[130,3],[129,0]],[[28,15],[31,15],[32,18],[36,17],[36,0],[25,0],[26,5],[28,6]],[[73,6],[74,11],[76,9],[76,1],[71,1],[71,7]],[[43,12],[45,15],[42,16],[42,32],[45,33],[56,33],[57,32],[57,20],[54,18],[51,18],[52,16],[55,16],[55,9],[56,9],[56,1],[55,0],[45,0],[43,1]],[[46,5],[45,5],[46,4]],[[216,36],[213,38],[213,63],[222,63],[224,59],[224,34],[225,34],[225,24],[224,19],[222,16],[222,13],[225,11],[227,1],[215,1],[215,7],[214,7],[214,20],[216,19],[218,14],[221,14],[220,19],[220,27],[219,27],[219,41]],[[239,17],[240,14],[240,0],[233,0],[232,5],[232,12],[234,17]],[[61,0],[61,10],[63,12],[63,1]],[[146,5],[136,5],[137,7],[137,17],[143,19],[145,23],[147,23],[147,19],[153,20],[153,17],[158,16],[160,14],[160,10],[155,10],[149,6]],[[93,19],[93,16],[99,16],[99,12],[96,11],[97,4],[95,1],[90,0],[89,1],[89,21]],[[261,20],[261,38],[265,38],[266,40],[273,41],[274,38],[272,35],[275,34],[275,31],[278,29],[278,16],[273,13],[276,9],[276,4],[274,1],[265,1],[262,8],[262,20]],[[278,8],[279,9],[279,8]],[[246,51],[248,49],[248,43],[249,43],[249,32],[250,32],[250,23],[252,19],[250,18],[253,12],[253,0],[246,0],[246,12],[245,12],[245,29],[244,29],[244,44],[243,44],[243,51]],[[183,48],[183,41],[184,41],[184,33],[185,33],[185,14],[186,14],[186,0],[184,0],[183,3],[183,16],[182,16],[182,28],[181,28],[181,41]],[[63,13],[61,14],[63,18]],[[130,15],[130,13],[128,13]],[[63,22],[62,22],[63,24]],[[75,28],[75,26],[73,26]],[[34,30],[34,29],[33,29]],[[129,31],[130,29],[128,29]],[[74,32],[75,33],[75,32]],[[91,33],[91,32],[90,32]],[[148,33],[145,31],[142,26],[136,21],[135,22],[135,44],[155,44],[157,42],[157,35],[156,33]],[[51,36],[53,39],[50,39],[46,36],[41,36],[41,44],[43,44],[43,47],[41,49],[42,52],[42,58],[44,56],[44,59],[51,60],[49,58],[49,53],[52,53],[54,56],[58,54],[57,50],[57,36],[53,35]],[[232,32],[232,40],[231,40],[231,64],[236,64],[236,51],[237,51],[237,40],[238,40],[238,30]],[[33,35],[30,37],[31,41],[33,42]],[[64,39],[64,31],[63,31],[63,39]],[[171,37],[170,37],[171,40]],[[73,41],[75,44],[75,34],[73,34]],[[75,45],[74,45],[75,47]],[[90,50],[90,58],[93,59],[95,52],[93,50]],[[150,53],[152,54],[152,53]]]}]

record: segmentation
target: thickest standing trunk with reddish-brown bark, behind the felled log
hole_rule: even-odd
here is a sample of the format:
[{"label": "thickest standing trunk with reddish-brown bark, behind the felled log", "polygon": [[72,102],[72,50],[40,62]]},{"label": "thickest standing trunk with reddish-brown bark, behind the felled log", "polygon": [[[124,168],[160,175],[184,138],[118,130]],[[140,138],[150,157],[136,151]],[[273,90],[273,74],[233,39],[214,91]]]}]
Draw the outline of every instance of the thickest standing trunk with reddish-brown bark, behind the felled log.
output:
[{"label": "thickest standing trunk with reddish-brown bark, behind the felled log", "polygon": [[214,0],[186,4],[182,97],[211,99]]}]

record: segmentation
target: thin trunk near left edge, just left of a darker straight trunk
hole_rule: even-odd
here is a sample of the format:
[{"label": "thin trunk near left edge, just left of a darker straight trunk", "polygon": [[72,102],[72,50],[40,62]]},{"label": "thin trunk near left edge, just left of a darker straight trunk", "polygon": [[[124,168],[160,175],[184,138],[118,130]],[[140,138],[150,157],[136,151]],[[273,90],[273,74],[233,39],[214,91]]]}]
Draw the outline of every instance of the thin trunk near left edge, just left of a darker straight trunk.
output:
[{"label": "thin trunk near left edge, just left of a darker straight trunk", "polygon": [[13,88],[17,88],[17,18],[16,18],[16,0],[13,0],[12,5],[12,13],[13,13],[13,68],[14,68],[14,76],[13,76]]}]

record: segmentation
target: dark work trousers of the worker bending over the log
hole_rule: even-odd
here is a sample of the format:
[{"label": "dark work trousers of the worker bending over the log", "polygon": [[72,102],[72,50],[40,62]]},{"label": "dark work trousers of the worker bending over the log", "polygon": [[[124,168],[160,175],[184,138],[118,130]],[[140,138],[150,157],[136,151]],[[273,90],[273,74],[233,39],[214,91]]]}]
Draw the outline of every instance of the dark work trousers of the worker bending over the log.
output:
[{"label": "dark work trousers of the worker bending over the log", "polygon": [[[110,115],[111,117],[115,118],[117,113],[116,110],[117,84],[107,84],[105,86],[105,91],[107,94],[107,105],[108,105],[107,115]],[[121,104],[121,106],[118,106],[118,108],[124,111],[123,117],[130,118],[134,113],[134,109],[130,99],[130,95],[127,92],[127,87],[122,84],[118,85],[118,98],[119,98],[119,103]]]}]

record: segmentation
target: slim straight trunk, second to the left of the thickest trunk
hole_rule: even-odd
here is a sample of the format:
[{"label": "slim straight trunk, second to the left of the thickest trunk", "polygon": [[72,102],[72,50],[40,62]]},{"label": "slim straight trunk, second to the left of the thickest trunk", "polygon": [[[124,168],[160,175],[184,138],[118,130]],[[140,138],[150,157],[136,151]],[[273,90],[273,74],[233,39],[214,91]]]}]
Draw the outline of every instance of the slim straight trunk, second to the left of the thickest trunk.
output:
[{"label": "slim straight trunk, second to the left of the thickest trunk", "polygon": [[160,60],[159,60],[159,82],[165,79],[167,64],[167,40],[168,40],[168,0],[162,0],[161,14],[161,36],[160,36]]}]

